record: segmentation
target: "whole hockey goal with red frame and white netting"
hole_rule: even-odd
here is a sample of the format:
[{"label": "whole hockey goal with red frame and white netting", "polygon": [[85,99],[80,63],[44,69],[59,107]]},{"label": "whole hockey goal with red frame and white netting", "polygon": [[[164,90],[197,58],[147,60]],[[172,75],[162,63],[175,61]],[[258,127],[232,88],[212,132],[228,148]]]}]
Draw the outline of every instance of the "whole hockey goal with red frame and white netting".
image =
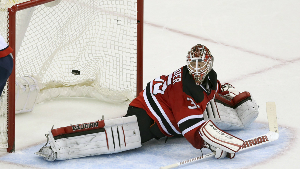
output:
[{"label": "whole hockey goal with red frame and white netting", "polygon": [[[46,7],[46,5],[42,5],[45,3],[49,4],[49,2],[51,3],[52,1],[53,0],[31,0],[24,2],[24,0],[21,0],[22,3],[20,3],[20,1],[0,0],[0,10],[3,13],[2,15],[6,17],[6,23],[8,22],[5,26],[6,30],[4,30],[4,32],[8,30],[7,34],[2,33],[2,30],[1,35],[4,36],[4,39],[7,39],[8,45],[14,49],[12,53],[14,68],[0,98],[2,99],[0,100],[0,145],[4,145],[3,143],[6,139],[8,143],[7,152],[14,152],[15,149],[16,77],[37,73],[43,85],[45,84],[45,88],[74,85],[83,86],[89,84],[99,92],[107,92],[104,93],[104,98],[112,100],[132,100],[143,90],[143,0],[61,0],[61,2],[60,0],[56,0],[60,2],[56,6],[52,5],[52,7]],[[93,2],[89,3],[91,1]],[[4,5],[5,3],[14,4],[4,8],[3,3]],[[66,4],[69,6],[64,8]],[[99,6],[99,4],[103,6]],[[58,9],[58,7],[63,8],[63,10]],[[76,9],[71,11],[72,8]],[[87,17],[87,12],[84,11],[83,8],[85,10],[93,10],[91,16]],[[24,32],[24,30],[22,30],[24,28],[16,30],[16,22],[19,22],[18,15],[21,15],[18,14],[18,11],[25,10],[28,10],[25,16],[28,17],[32,15],[32,18],[30,22],[27,23],[28,28]],[[35,13],[36,11],[37,14]],[[54,12],[54,15],[51,15],[52,18],[50,17],[50,11]],[[67,14],[68,12],[70,12],[69,15]],[[73,17],[76,14],[78,16],[85,16],[85,19],[76,20],[78,19],[76,16],[74,19]],[[42,17],[42,19],[32,24],[35,15],[40,15],[36,18]],[[3,20],[3,16],[1,17]],[[59,19],[61,19],[62,22],[60,22],[61,20]],[[47,20],[50,20],[52,24],[46,25]],[[86,20],[94,20],[96,23],[88,23],[87,27],[80,27]],[[57,27],[55,27],[56,24],[58,24]],[[33,27],[31,27],[32,25]],[[45,30],[45,27],[50,27],[50,30]],[[67,27],[68,29],[64,30],[61,27]],[[17,31],[19,35],[17,35]],[[70,34],[72,31],[74,31],[73,34]],[[54,35],[55,33],[58,35]],[[38,36],[39,34],[43,34],[43,36]],[[29,37],[27,37],[28,35]],[[24,40],[19,42],[16,40],[16,36],[18,36],[17,38],[21,36]],[[51,38],[52,36],[60,38],[59,41],[52,42],[54,41],[53,38],[52,41],[45,40],[46,37]],[[37,41],[34,40],[35,38],[40,39]],[[89,41],[87,38],[91,40]],[[30,41],[31,43],[25,44],[24,41]],[[46,44],[43,45],[45,41]],[[40,47],[35,44],[39,44]],[[50,48],[50,51],[48,50],[41,53],[39,48],[44,48],[44,46],[48,49]],[[54,48],[54,51],[51,51],[51,48]],[[33,51],[33,54],[29,55],[22,52],[26,49]],[[92,49],[92,51],[90,52],[88,49]],[[29,55],[30,57],[22,58],[20,57],[22,54],[26,54],[26,56]],[[83,57],[80,59],[77,55],[74,57],[72,54]],[[41,61],[39,58],[44,55],[49,55],[49,57],[43,58],[44,60]],[[55,60],[54,55],[58,55],[58,61],[56,62],[60,64],[58,64],[58,66],[56,65],[56,67],[51,67],[52,63],[49,63],[49,61]],[[96,55],[96,57],[94,57],[94,55]],[[37,60],[36,63],[31,63],[33,67],[41,67],[39,72],[30,72],[28,70],[29,68],[26,69],[26,67],[23,66],[29,64],[32,60],[31,57]],[[71,60],[67,60],[66,58],[71,58]],[[24,62],[24,60],[26,62]],[[74,63],[74,60],[78,63]],[[20,63],[21,61],[22,63]],[[40,64],[42,66],[40,66]],[[20,65],[22,65],[22,67]],[[87,69],[84,69],[86,67]],[[48,74],[45,73],[53,69],[54,71],[48,72]],[[67,72],[60,72],[61,69],[66,69]],[[81,71],[80,75],[72,75],[72,69]],[[82,69],[84,70],[82,71]],[[20,70],[24,72],[20,73]],[[90,71],[90,74],[94,75],[94,77],[88,76],[85,79],[80,79],[87,71]],[[67,74],[68,77],[64,77],[65,74]],[[49,78],[48,76],[51,75],[58,77],[58,79]],[[63,80],[67,82],[70,81],[70,83],[66,83]],[[49,84],[51,84],[50,87],[47,86]],[[121,97],[118,98],[117,95]],[[7,111],[1,112],[1,106],[7,106]],[[7,121],[4,121],[6,124],[4,123],[5,126],[2,128],[1,117],[7,117]]]}]

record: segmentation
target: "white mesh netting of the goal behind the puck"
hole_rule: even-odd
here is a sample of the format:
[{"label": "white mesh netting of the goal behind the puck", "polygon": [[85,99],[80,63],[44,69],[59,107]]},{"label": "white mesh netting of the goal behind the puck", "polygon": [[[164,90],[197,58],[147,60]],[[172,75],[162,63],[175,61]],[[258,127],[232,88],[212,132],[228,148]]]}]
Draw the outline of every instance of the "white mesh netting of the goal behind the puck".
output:
[{"label": "white mesh netting of the goal behind the puck", "polygon": [[[1,1],[1,35],[7,7]],[[90,85],[106,101],[132,100],[137,83],[137,0],[61,0],[16,15],[16,77],[38,76],[44,89]],[[73,75],[72,70],[80,75]],[[42,89],[43,90],[43,89]],[[0,99],[0,144],[7,142],[7,94]]]}]

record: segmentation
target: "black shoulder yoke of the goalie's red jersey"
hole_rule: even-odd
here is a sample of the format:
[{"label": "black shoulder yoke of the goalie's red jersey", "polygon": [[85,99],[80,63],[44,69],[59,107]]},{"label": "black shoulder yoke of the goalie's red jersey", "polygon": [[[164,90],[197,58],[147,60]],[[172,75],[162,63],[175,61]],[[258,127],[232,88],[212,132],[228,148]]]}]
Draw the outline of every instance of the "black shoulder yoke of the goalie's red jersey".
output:
[{"label": "black shoulder yoke of the goalie's red jersey", "polygon": [[[209,86],[208,89],[206,89],[206,84]],[[207,74],[202,84],[197,86],[193,80],[193,76],[190,75],[187,66],[183,66],[182,91],[185,94],[193,97],[196,103],[200,103],[204,99],[203,91],[206,92],[207,95],[210,95],[211,90],[217,90],[217,73],[213,69]]]}]

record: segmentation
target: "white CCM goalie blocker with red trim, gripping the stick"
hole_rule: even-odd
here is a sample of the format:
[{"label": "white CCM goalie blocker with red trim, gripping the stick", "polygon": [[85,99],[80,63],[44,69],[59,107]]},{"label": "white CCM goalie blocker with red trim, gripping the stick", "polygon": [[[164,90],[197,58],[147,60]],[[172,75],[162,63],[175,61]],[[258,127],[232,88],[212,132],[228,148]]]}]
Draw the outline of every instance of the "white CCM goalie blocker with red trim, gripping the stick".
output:
[{"label": "white CCM goalie blocker with red trim, gripping the stick", "polygon": [[205,146],[212,152],[216,152],[214,157],[217,159],[234,158],[235,153],[244,144],[243,140],[220,130],[210,120],[201,126],[199,134],[204,140]]}]

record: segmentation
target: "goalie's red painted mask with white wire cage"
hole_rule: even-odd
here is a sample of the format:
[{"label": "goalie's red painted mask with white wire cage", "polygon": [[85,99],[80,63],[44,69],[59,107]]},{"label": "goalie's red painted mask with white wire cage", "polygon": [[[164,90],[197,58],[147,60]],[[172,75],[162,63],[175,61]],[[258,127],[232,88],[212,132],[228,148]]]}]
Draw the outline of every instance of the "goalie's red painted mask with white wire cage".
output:
[{"label": "goalie's red painted mask with white wire cage", "polygon": [[187,69],[197,85],[200,85],[212,69],[214,57],[204,45],[196,45],[187,53]]}]

